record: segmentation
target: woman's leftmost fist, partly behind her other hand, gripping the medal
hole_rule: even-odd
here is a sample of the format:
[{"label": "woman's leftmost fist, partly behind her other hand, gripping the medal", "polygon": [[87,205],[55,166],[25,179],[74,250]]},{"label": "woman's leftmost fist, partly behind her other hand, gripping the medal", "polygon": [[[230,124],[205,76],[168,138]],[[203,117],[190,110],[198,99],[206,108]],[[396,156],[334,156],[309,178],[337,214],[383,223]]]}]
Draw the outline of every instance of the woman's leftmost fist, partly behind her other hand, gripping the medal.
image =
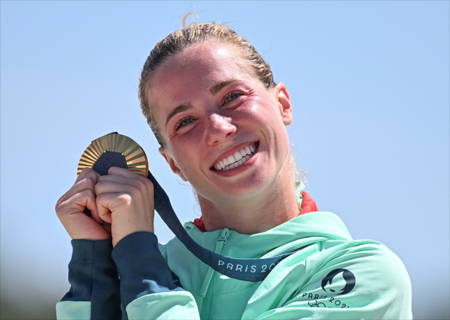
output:
[{"label": "woman's leftmost fist, partly behind her other hand, gripping the medal", "polygon": [[[75,184],[56,203],[56,214],[72,239],[104,240],[111,238],[110,225],[98,215],[95,185],[100,175],[83,169]],[[90,210],[91,216],[84,213]]]}]

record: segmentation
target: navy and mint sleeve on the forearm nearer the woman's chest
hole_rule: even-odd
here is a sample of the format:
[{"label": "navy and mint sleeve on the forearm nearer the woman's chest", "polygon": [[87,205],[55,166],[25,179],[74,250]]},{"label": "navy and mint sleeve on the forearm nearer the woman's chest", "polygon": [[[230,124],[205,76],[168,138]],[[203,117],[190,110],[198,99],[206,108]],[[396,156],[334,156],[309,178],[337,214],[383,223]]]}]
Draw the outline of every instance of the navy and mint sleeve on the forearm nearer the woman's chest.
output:
[{"label": "navy and mint sleeve on the forearm nearer the woman's chest", "polygon": [[116,245],[112,257],[128,319],[199,319],[191,293],[169,270],[151,232],[136,232]]}]

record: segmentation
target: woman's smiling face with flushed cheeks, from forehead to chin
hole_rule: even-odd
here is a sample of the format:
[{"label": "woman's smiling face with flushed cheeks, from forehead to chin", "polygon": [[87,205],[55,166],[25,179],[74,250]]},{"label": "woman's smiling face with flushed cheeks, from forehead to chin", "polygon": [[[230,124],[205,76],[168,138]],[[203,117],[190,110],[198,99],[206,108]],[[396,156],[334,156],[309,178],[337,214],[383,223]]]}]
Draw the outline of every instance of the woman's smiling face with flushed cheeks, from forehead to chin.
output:
[{"label": "woman's smiling face with flushed cheeks, from forehead to chin", "polygon": [[160,152],[200,201],[250,199],[291,175],[286,88],[266,89],[233,47],[185,49],[157,69],[148,90]]}]

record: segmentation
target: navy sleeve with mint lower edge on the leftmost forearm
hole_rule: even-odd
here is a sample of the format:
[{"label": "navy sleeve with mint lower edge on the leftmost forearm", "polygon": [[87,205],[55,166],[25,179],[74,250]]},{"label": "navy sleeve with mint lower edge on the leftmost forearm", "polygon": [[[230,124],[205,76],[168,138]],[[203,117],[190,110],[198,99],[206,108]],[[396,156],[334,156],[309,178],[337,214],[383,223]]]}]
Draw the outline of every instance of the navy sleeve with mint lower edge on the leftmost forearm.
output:
[{"label": "navy sleeve with mint lower edge on the leftmost forearm", "polygon": [[58,319],[121,319],[111,240],[72,240],[71,288],[56,305]]}]

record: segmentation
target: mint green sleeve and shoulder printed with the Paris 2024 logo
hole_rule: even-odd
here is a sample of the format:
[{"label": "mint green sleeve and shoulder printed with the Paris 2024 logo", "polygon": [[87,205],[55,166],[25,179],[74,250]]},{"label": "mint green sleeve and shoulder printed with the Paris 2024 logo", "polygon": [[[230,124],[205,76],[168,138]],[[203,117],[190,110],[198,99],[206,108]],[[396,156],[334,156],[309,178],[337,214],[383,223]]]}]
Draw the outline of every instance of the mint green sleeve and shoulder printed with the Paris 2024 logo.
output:
[{"label": "mint green sleeve and shoulder printed with the Paris 2024 logo", "polygon": [[314,256],[324,262],[290,257],[277,265],[285,269],[261,284],[242,319],[412,319],[409,276],[383,245],[361,241]]}]

